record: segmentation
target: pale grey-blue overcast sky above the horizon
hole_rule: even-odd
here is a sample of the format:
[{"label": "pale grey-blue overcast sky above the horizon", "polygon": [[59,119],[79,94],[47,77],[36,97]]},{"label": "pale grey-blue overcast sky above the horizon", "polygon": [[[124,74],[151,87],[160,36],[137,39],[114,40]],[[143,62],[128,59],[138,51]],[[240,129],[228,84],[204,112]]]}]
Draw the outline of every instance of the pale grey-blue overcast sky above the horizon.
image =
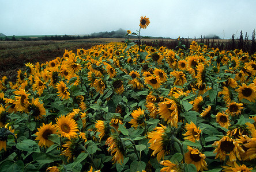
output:
[{"label": "pale grey-blue overcast sky above the horizon", "polygon": [[255,0],[0,0],[0,33],[6,36],[91,34],[119,28],[143,36],[235,38],[256,29]]}]

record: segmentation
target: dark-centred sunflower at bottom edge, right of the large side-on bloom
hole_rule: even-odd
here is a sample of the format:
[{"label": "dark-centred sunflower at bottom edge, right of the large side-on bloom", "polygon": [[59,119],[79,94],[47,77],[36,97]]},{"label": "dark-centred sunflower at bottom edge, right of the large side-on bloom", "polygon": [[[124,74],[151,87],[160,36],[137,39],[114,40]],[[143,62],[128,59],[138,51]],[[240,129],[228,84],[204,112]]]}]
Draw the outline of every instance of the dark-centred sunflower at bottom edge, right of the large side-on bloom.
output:
[{"label": "dark-centred sunflower at bottom edge, right of the large side-on bloom", "polygon": [[197,148],[192,148],[190,146],[187,146],[187,149],[189,150],[185,154],[185,162],[187,164],[192,163],[197,167],[197,171],[204,171],[207,169],[207,163],[205,161],[206,157],[205,154],[202,154]]}]

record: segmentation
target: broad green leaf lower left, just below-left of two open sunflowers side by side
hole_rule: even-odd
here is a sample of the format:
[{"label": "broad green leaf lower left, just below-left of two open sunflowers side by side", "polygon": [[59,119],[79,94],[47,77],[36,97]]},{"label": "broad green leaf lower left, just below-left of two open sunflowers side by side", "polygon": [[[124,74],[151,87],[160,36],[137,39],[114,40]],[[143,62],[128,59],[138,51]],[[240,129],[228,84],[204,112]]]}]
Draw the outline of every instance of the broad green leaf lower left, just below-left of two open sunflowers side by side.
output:
[{"label": "broad green leaf lower left, just below-left of two open sunflowers side by side", "polygon": [[38,146],[37,143],[34,142],[33,140],[29,140],[29,139],[23,140],[22,142],[17,143],[17,144],[16,144],[16,147],[17,147],[19,150],[22,150],[22,151],[40,153],[40,148],[39,148],[39,146]]}]

